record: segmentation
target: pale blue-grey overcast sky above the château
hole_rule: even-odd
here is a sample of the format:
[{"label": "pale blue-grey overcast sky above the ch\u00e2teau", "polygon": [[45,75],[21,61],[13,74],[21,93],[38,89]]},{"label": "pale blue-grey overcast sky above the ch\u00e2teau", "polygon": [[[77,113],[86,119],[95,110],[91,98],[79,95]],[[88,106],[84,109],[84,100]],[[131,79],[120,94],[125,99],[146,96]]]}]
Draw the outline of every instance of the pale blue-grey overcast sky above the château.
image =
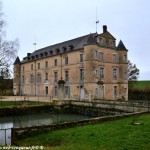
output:
[{"label": "pale blue-grey overcast sky above the ch\u00e2teau", "polygon": [[150,80],[149,0],[1,0],[7,39],[18,38],[18,56],[96,32],[108,31],[129,50],[129,60],[140,69],[139,80]]}]

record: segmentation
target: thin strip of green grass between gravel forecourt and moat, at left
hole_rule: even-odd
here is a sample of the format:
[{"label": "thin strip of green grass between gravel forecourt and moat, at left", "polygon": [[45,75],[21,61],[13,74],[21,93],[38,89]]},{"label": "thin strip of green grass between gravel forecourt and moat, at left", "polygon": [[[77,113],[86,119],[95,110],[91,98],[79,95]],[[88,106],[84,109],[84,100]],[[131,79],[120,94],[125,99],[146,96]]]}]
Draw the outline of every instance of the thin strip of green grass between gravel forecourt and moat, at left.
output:
[{"label": "thin strip of green grass between gravel forecourt and moat, at left", "polygon": [[31,105],[41,105],[41,104],[46,104],[44,102],[36,102],[36,101],[27,101],[27,102],[23,102],[23,101],[2,101],[0,100],[0,108],[3,107],[17,107],[17,106],[31,106]]}]

